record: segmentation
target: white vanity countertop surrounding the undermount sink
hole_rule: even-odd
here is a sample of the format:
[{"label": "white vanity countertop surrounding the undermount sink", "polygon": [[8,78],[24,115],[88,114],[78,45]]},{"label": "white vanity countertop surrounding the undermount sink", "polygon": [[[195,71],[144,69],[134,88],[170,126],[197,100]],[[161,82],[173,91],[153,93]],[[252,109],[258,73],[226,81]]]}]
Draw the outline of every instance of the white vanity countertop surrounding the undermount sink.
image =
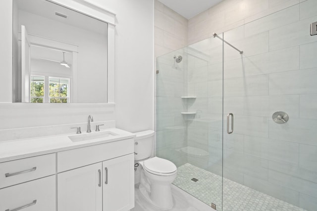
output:
[{"label": "white vanity countertop surrounding the undermount sink", "polygon": [[[72,142],[68,136],[80,136],[87,133],[68,133],[36,138],[1,141],[0,163],[135,137],[135,134],[118,128],[107,128],[105,130],[100,130],[99,132],[103,131],[110,131],[116,133],[117,135],[78,142]],[[94,133],[98,132],[91,132],[91,134]]]}]

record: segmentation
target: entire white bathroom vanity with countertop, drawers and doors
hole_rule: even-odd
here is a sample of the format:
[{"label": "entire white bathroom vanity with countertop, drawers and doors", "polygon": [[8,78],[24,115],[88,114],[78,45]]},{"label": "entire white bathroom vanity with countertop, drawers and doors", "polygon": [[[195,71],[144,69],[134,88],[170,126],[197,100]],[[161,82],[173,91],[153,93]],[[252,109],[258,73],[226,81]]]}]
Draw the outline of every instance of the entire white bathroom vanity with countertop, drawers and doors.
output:
[{"label": "entire white bathroom vanity with countertop, drawers and doors", "polygon": [[134,136],[107,128],[0,142],[0,210],[132,209]]}]

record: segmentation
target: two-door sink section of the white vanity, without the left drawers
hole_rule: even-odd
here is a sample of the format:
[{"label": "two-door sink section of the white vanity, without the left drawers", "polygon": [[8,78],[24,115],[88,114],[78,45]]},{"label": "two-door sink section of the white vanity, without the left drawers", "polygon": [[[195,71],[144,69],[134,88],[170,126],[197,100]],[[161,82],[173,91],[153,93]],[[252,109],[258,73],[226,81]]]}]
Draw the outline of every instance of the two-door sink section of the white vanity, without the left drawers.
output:
[{"label": "two-door sink section of the white vanity, without the left drawers", "polygon": [[133,144],[133,139],[126,139],[58,152],[58,211],[132,209]]}]

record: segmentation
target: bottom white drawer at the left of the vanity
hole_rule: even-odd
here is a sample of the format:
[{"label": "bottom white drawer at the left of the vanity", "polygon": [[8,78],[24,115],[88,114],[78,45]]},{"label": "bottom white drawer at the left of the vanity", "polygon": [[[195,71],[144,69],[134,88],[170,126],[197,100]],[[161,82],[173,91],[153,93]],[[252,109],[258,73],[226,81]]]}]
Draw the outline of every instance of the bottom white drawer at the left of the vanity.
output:
[{"label": "bottom white drawer at the left of the vanity", "polygon": [[55,175],[3,188],[0,211],[56,211],[55,189]]}]

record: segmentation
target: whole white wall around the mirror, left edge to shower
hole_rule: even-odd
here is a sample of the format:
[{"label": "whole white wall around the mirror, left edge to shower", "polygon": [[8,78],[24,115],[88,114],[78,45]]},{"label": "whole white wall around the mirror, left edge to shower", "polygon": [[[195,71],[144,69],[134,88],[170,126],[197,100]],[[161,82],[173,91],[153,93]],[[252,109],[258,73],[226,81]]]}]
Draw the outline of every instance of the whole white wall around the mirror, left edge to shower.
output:
[{"label": "whole white wall around the mirror, left edge to shower", "polygon": [[[100,103],[53,107],[49,104],[9,103],[12,100],[9,91],[12,82],[12,2],[6,0],[1,1],[0,6],[0,78],[4,82],[0,88],[8,91],[0,92],[0,102],[6,102],[0,104],[0,119],[3,123],[0,125],[0,134],[5,132],[4,128],[62,125],[65,120],[67,124],[86,123],[90,114],[93,114],[96,122],[115,119],[118,128],[128,131],[153,129],[153,1],[99,0],[96,3],[117,14],[116,115],[114,106]],[[56,117],[58,111],[62,114],[60,118]],[[5,121],[10,121],[10,124],[6,125]]]}]

